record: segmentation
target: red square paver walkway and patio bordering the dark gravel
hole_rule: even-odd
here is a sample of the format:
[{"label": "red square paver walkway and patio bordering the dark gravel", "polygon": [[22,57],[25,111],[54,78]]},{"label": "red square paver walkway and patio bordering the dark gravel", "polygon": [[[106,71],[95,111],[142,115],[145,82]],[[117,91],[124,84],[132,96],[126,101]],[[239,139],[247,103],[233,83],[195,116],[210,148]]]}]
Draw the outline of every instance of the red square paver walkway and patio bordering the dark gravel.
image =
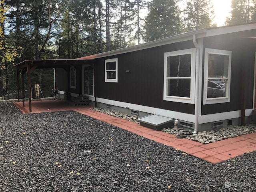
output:
[{"label": "red square paver walkway and patio bordering the dark gravel", "polygon": [[[22,113],[29,113],[28,102],[25,102],[24,107],[22,106],[22,102],[14,102],[14,104]],[[90,110],[90,108],[92,108],[92,106],[71,106],[68,101],[64,100],[32,101],[32,113],[74,110],[81,114],[118,126],[150,140],[162,143],[166,146],[182,150],[187,154],[201,158],[213,164],[256,150],[256,133],[225,139],[210,144],[201,144],[185,138],[177,139],[174,135],[162,131],[156,131],[140,126],[137,123],[96,112],[94,110]]]}]

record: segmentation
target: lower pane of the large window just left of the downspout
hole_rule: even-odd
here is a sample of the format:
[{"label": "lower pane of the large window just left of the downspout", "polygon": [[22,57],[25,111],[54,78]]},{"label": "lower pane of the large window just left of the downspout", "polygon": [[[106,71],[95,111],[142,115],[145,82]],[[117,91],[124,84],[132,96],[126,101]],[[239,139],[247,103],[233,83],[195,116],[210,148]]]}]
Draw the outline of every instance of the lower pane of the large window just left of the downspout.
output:
[{"label": "lower pane of the large window just left of the downspout", "polygon": [[168,96],[190,98],[190,79],[168,79]]}]

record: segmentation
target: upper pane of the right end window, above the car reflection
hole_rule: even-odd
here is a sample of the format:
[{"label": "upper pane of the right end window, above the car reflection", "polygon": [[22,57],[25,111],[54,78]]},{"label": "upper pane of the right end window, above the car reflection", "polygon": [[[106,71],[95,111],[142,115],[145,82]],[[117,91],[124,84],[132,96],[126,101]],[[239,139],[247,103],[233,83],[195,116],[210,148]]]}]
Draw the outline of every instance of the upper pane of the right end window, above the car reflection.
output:
[{"label": "upper pane of the right end window, above the car reflection", "polygon": [[208,77],[228,77],[228,55],[209,54]]}]

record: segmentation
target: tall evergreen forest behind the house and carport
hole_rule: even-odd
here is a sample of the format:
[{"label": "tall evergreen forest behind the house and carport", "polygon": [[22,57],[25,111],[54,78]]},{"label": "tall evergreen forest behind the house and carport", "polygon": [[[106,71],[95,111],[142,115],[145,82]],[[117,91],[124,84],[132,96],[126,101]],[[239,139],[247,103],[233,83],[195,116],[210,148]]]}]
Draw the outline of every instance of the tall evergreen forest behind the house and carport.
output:
[{"label": "tall evergreen forest behind the house and carport", "polygon": [[[23,60],[74,59],[214,23],[214,0],[0,0],[0,96],[17,92]],[[256,0],[231,0],[225,25],[256,22]],[[31,82],[52,96],[54,69]]]}]

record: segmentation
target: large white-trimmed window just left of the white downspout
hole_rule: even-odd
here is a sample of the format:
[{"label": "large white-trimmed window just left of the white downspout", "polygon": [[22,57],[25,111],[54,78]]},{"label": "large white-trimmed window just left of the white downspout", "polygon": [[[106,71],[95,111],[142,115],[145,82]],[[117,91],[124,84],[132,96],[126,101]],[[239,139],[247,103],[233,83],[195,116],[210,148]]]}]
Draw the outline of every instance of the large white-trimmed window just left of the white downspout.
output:
[{"label": "large white-trimmed window just left of the white downspout", "polygon": [[164,100],[194,104],[196,48],[164,53]]}]

